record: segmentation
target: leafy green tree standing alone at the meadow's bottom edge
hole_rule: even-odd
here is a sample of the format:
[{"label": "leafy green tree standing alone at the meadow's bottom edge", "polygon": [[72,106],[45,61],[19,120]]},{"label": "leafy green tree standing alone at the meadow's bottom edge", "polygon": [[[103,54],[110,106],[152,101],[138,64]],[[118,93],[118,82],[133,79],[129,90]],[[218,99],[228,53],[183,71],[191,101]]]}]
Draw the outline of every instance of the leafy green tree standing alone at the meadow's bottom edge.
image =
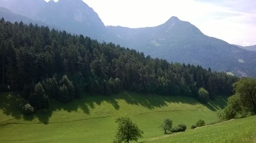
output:
[{"label": "leafy green tree standing alone at the meadow's bottom edge", "polygon": [[133,120],[128,117],[119,117],[116,119],[116,123],[118,123],[116,136],[113,142],[121,143],[129,141],[138,141],[139,138],[142,138],[142,134],[144,133],[139,129],[138,125],[133,122]]}]

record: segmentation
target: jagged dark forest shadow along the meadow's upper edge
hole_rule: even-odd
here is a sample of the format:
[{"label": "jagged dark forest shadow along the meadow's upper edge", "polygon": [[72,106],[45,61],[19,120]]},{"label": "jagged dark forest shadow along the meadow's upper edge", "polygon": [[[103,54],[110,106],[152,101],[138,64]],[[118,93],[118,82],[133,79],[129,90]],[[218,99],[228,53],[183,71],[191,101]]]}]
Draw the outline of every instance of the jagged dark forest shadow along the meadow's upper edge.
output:
[{"label": "jagged dark forest shadow along the meadow's upper edge", "polygon": [[[33,115],[22,116],[19,109],[19,95],[17,93],[1,93],[0,94],[0,109],[2,109],[5,115],[11,115],[15,119],[23,119],[25,121],[32,122],[38,118],[40,123],[48,124],[49,119],[56,110],[65,110],[68,112],[77,111],[78,109],[83,110],[87,115],[90,115],[90,110],[95,108],[95,104],[101,105],[103,102],[111,104],[116,110],[119,110],[119,100],[124,100],[127,104],[141,105],[148,109],[154,109],[156,107],[167,106],[167,103],[182,103],[197,105],[200,104],[195,99],[188,98],[185,96],[163,96],[156,94],[138,94],[133,92],[121,92],[112,95],[92,95],[84,94],[79,99],[75,99],[68,103],[61,103],[50,99],[50,108],[36,111]],[[218,101],[209,102],[206,105],[210,110],[216,111],[224,107],[226,98],[218,97]]]}]

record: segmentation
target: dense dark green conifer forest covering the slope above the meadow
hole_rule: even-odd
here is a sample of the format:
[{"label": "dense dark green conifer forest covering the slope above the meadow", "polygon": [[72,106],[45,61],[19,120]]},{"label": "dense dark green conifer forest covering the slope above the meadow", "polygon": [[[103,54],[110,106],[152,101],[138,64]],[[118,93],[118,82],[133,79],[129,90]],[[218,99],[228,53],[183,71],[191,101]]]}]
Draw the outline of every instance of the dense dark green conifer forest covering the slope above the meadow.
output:
[{"label": "dense dark green conifer forest covering the slope above the meadow", "polygon": [[213,98],[232,94],[232,83],[238,81],[236,76],[210,68],[168,63],[113,43],[3,18],[0,66],[1,90],[22,91],[38,109],[48,106],[40,101],[68,102],[82,92],[131,90],[196,97],[204,88]]}]

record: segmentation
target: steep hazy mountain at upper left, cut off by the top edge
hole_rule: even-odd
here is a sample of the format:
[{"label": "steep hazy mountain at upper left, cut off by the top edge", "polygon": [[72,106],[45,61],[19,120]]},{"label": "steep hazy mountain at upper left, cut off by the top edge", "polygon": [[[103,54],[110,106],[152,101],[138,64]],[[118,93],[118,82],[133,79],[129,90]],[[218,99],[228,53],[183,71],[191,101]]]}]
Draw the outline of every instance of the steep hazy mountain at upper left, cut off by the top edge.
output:
[{"label": "steep hazy mountain at upper left, cut off by the top edge", "polygon": [[105,26],[98,14],[81,0],[0,0],[0,6],[28,18],[56,25],[70,33],[103,40]]}]

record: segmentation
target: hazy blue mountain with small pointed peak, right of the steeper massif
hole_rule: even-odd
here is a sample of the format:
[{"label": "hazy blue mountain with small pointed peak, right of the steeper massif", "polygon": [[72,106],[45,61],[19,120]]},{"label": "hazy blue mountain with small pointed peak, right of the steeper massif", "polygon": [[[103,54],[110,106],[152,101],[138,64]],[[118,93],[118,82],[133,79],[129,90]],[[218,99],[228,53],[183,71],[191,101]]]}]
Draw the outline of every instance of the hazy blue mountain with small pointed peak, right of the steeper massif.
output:
[{"label": "hazy blue mountain with small pointed peak, right of the steeper massif", "polygon": [[156,27],[107,27],[116,43],[169,62],[199,64],[217,71],[255,76],[256,52],[204,35],[189,22],[172,17]]}]

